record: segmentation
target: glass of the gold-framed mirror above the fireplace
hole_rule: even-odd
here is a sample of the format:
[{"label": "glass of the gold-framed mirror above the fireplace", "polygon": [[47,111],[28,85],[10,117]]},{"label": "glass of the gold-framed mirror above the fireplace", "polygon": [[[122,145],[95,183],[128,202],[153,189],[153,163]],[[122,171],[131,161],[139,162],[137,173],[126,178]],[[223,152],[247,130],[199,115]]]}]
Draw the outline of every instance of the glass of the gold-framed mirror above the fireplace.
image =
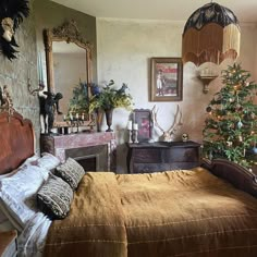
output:
[{"label": "glass of the gold-framed mirror above the fireplace", "polygon": [[[66,114],[70,99],[73,97],[73,88],[79,82],[87,81],[86,49],[74,42],[53,41],[52,61],[54,93],[60,91],[63,95],[59,108],[63,114]],[[61,122],[62,117],[58,115],[56,121]]]}]

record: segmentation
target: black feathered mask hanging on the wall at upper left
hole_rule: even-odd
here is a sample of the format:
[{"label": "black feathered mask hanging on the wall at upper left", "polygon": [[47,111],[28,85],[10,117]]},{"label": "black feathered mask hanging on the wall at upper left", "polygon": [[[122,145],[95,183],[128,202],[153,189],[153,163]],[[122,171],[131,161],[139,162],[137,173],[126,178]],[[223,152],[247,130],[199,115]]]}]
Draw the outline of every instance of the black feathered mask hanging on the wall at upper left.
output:
[{"label": "black feathered mask hanging on the wall at upper left", "polygon": [[29,14],[28,0],[0,1],[0,51],[11,61],[15,59],[16,48],[14,34],[20,23]]}]

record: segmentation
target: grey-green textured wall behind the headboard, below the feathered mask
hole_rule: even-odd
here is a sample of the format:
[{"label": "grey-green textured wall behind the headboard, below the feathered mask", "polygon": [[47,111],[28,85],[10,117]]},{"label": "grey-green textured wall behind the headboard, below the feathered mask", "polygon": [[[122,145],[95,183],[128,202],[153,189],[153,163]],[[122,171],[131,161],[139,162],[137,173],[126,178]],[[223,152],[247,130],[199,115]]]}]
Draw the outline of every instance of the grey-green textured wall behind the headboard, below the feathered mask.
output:
[{"label": "grey-green textured wall behind the headboard, below the feathered mask", "polygon": [[0,86],[8,85],[14,108],[26,119],[32,120],[36,133],[36,151],[39,151],[39,106],[37,97],[27,90],[30,73],[32,85],[37,85],[36,29],[33,1],[29,2],[30,15],[25,19],[15,34],[17,59],[9,61],[0,53]]}]

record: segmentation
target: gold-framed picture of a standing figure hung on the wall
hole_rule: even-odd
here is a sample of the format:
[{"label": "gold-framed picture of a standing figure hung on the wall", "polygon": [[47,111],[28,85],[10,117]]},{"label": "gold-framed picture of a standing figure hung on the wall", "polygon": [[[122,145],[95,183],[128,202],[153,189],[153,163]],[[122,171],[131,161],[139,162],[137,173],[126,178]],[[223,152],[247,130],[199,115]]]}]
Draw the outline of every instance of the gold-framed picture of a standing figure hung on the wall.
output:
[{"label": "gold-framed picture of a standing figure hung on the wall", "polygon": [[151,58],[150,70],[150,101],[182,101],[182,59]]}]

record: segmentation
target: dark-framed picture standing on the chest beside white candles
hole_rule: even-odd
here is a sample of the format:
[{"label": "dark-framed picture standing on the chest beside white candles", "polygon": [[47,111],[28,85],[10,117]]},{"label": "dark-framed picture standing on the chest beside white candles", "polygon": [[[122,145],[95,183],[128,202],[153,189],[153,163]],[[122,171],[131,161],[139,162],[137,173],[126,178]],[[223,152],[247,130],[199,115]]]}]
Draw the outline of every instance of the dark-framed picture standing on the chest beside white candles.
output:
[{"label": "dark-framed picture standing on the chest beside white candles", "polygon": [[138,124],[138,142],[148,142],[151,139],[152,132],[151,111],[149,109],[135,109],[133,112],[135,113],[134,122]]}]

